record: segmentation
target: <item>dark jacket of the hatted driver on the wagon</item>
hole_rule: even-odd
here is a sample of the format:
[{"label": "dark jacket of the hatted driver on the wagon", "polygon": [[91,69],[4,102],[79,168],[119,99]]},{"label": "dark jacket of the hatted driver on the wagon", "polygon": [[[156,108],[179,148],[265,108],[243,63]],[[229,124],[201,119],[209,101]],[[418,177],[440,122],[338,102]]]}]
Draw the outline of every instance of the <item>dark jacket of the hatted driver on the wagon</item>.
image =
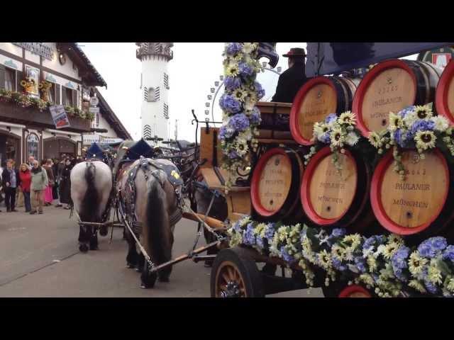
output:
[{"label": "dark jacket of the hatted driver on the wagon", "polygon": [[278,103],[293,103],[297,92],[306,81],[304,63],[294,64],[279,76],[276,94],[272,97],[272,101]]}]

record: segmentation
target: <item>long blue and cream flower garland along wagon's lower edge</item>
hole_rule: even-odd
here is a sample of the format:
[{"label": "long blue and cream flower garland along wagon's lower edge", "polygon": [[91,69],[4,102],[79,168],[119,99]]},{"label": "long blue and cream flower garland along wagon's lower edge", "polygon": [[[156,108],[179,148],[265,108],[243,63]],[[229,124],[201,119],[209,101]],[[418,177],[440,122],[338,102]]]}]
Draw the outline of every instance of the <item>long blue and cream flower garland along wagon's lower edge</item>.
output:
[{"label": "long blue and cream flower garland along wagon's lower edge", "polygon": [[260,223],[250,216],[229,229],[230,246],[251,246],[266,256],[276,256],[290,266],[298,264],[309,286],[315,270],[326,271],[325,285],[338,278],[349,284],[375,288],[380,297],[411,293],[454,297],[454,245],[444,237],[431,237],[409,248],[396,234],[363,237],[345,229],[306,225]]}]

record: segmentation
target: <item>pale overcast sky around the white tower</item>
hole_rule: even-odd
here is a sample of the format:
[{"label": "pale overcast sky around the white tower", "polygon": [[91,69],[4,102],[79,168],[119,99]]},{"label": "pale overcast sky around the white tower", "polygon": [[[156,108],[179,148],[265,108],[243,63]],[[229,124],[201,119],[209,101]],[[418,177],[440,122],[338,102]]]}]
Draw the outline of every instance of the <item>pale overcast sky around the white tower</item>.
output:
[{"label": "pale overcast sky around the white tower", "polygon": [[[140,60],[135,57],[137,46],[134,42],[79,42],[82,50],[94,64],[107,83],[107,89],[99,88],[101,94],[116,113],[121,123],[135,140],[140,134]],[[287,69],[287,58],[282,54],[290,47],[304,47],[306,42],[279,42],[279,64],[282,71]],[[172,47],[174,59],[169,62],[169,113],[171,132],[174,137],[175,120],[178,120],[178,139],[194,140],[194,127],[191,125],[191,109],[194,108],[199,120],[204,120],[207,95],[214,81],[223,74],[223,42],[175,42]],[[275,92],[278,75],[265,72],[258,76],[264,86],[265,100],[270,101]],[[223,89],[218,92],[217,99]],[[221,119],[221,111],[215,103],[214,118]],[[210,108],[211,109],[211,108]]]}]

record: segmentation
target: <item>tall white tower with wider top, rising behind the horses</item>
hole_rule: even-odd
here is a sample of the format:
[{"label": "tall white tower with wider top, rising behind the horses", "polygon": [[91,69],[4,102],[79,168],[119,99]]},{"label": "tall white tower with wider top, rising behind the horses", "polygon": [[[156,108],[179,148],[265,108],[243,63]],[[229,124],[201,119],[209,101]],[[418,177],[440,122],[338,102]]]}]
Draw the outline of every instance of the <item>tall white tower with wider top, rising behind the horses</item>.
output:
[{"label": "tall white tower with wider top, rising behind the horses", "polygon": [[167,63],[173,59],[173,42],[135,42],[135,56],[142,62],[140,114],[142,137],[168,139],[169,73]]}]

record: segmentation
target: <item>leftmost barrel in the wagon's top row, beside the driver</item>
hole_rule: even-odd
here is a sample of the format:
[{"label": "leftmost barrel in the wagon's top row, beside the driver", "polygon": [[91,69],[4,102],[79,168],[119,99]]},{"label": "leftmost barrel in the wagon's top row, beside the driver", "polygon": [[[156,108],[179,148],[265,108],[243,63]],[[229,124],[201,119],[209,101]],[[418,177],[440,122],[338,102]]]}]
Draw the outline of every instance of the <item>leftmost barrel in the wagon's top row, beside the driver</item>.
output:
[{"label": "leftmost barrel in the wagon's top row, beside the driver", "polygon": [[311,142],[314,123],[330,113],[349,111],[359,79],[316,77],[301,86],[290,111],[290,132],[301,145]]}]

